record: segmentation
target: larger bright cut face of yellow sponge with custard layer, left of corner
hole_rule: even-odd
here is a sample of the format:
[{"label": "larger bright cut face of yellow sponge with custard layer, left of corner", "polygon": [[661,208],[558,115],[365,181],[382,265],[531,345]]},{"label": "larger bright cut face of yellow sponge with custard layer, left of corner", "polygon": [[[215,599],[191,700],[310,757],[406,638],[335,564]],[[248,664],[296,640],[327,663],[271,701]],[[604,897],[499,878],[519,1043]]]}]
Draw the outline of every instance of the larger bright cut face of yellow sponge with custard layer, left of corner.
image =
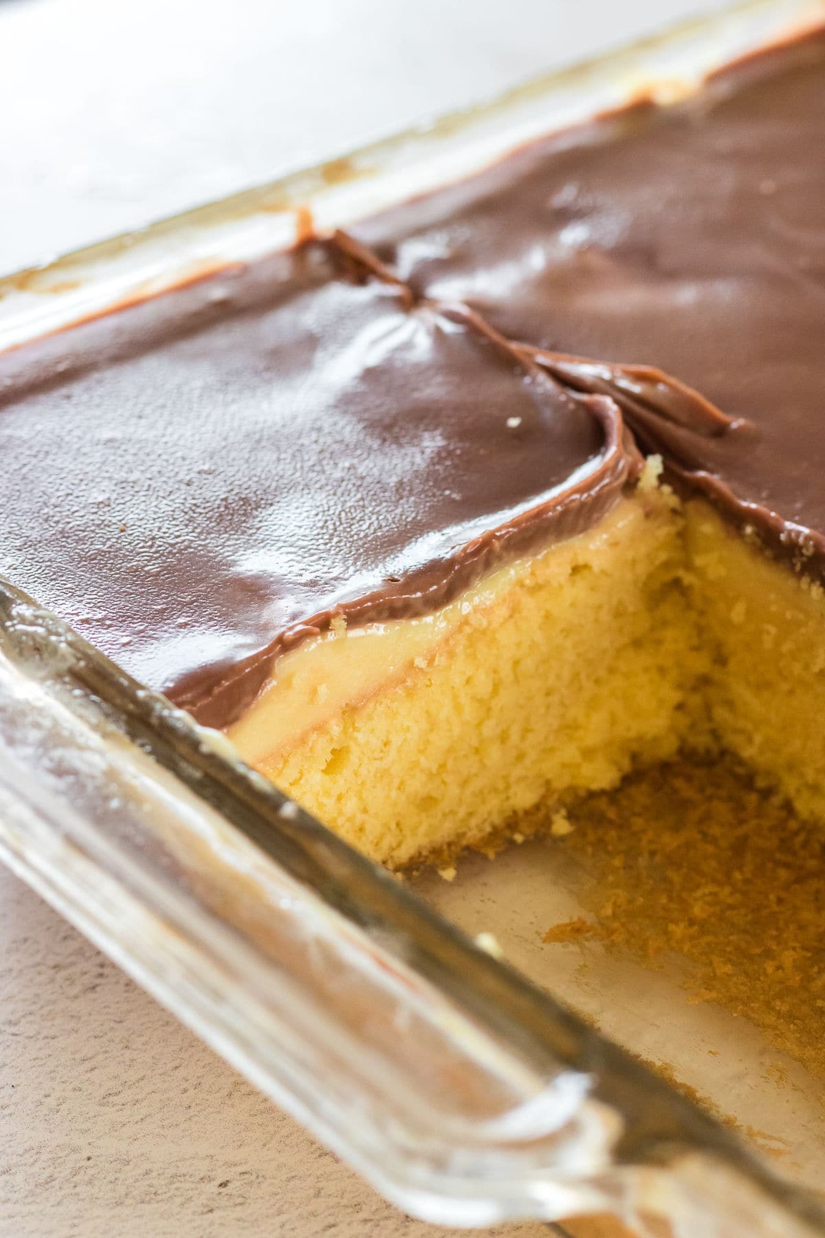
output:
[{"label": "larger bright cut face of yellow sponge with custard layer, left of corner", "polygon": [[299,646],[230,738],[383,863],[479,841],[701,725],[683,577],[683,516],[644,487],[437,615]]}]

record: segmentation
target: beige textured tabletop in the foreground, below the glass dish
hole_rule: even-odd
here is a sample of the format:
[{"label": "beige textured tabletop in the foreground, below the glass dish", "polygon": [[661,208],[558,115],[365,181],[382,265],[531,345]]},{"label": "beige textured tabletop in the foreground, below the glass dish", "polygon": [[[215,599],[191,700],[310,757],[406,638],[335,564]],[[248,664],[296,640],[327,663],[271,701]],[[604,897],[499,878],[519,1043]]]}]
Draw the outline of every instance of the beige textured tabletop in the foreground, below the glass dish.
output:
[{"label": "beige textured tabletop in the foreground, below the glass dish", "polygon": [[385,1203],[2,868],[0,942],[1,1238],[448,1233]]}]

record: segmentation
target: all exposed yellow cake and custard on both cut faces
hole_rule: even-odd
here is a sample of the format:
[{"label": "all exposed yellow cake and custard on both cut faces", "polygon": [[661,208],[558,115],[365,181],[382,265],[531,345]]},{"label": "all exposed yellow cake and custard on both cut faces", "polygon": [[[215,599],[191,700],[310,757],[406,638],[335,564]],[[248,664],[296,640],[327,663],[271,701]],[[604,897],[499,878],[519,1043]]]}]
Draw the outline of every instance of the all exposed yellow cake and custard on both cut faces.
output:
[{"label": "all exposed yellow cake and custard on both cut faces", "polygon": [[391,867],[679,750],[730,750],[825,820],[825,593],[654,474],[435,614],[282,656],[230,739]]}]

